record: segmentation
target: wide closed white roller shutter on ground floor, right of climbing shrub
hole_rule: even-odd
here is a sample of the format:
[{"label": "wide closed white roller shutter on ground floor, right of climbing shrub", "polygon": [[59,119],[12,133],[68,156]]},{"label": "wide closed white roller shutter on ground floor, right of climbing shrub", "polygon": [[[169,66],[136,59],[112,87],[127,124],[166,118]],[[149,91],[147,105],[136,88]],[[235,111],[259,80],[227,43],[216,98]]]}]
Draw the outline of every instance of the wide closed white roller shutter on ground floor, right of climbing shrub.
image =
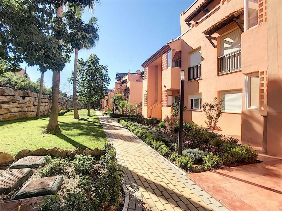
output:
[{"label": "wide closed white roller shutter on ground floor, right of climbing shrub", "polygon": [[221,92],[220,97],[223,98],[223,109],[225,112],[242,112],[243,94],[242,91]]}]

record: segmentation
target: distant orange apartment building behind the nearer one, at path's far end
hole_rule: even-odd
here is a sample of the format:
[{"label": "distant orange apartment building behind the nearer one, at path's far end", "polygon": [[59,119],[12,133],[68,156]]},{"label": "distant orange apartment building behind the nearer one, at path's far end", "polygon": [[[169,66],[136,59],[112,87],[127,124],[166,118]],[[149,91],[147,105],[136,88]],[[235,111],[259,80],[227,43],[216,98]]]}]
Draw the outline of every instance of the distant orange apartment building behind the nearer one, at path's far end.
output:
[{"label": "distant orange apartment building behind the nearer one, at path's far end", "polygon": [[[107,111],[109,107],[113,108],[111,98],[114,94],[123,94],[123,98],[131,104],[142,102],[142,74],[140,70],[136,73],[116,73],[117,81],[114,83],[114,90],[108,92],[102,100],[102,107]],[[130,94],[132,93],[132,94]]]}]

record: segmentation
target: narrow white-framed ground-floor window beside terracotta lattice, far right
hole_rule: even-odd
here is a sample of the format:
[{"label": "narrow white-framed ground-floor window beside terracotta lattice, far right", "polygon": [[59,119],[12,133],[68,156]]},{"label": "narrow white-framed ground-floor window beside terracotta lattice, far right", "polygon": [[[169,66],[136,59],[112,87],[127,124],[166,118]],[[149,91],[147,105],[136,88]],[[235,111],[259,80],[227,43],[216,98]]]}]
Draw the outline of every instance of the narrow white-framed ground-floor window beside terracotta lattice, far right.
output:
[{"label": "narrow white-framed ground-floor window beside terracotta lattice, far right", "polygon": [[259,73],[245,77],[245,100],[248,109],[259,109]]}]

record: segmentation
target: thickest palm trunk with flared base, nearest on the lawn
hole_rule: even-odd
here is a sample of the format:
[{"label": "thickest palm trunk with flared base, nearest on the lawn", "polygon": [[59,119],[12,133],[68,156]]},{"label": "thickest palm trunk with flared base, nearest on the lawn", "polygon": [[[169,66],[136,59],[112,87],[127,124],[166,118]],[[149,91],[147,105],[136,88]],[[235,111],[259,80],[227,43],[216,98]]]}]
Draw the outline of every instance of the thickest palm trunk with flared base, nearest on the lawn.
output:
[{"label": "thickest palm trunk with flared base, nearest on the lawn", "polygon": [[[56,10],[56,17],[63,17],[63,6],[60,6]],[[44,133],[56,134],[60,133],[60,127],[58,125],[58,107],[59,107],[59,90],[60,89],[60,71],[53,70],[52,78],[52,107],[50,113],[49,123],[45,128]]]}]

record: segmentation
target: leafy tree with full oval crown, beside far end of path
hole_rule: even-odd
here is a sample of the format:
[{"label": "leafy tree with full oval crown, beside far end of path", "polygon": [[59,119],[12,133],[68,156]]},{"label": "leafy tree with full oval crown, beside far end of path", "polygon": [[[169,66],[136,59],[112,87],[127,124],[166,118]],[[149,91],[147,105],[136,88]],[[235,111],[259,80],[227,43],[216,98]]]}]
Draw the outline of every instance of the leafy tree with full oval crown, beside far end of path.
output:
[{"label": "leafy tree with full oval crown, beside far end of path", "polygon": [[99,64],[95,54],[89,56],[84,62],[78,60],[78,98],[88,105],[87,115],[90,116],[91,104],[101,100],[105,96],[105,90],[110,83],[107,66]]}]

